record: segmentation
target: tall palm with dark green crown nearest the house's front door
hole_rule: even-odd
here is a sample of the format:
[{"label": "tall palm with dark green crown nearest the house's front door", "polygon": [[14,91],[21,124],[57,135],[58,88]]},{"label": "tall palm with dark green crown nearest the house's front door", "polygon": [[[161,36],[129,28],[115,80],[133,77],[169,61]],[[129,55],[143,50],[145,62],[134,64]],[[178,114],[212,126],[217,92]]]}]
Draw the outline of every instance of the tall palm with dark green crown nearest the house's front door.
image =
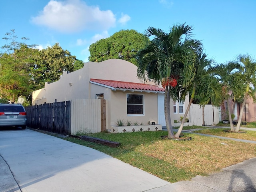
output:
[{"label": "tall palm with dark green crown nearest the house's front door", "polygon": [[[162,80],[173,80],[180,76],[186,68],[184,82],[191,82],[194,77],[194,62],[196,53],[202,49],[198,40],[191,38],[192,27],[182,24],[175,25],[166,33],[160,29],[150,27],[146,30],[147,37],[153,36],[146,48],[138,52],[138,77],[141,80],[151,78],[160,84]],[[165,87],[164,113],[168,138],[175,138],[170,117],[170,89]]]}]

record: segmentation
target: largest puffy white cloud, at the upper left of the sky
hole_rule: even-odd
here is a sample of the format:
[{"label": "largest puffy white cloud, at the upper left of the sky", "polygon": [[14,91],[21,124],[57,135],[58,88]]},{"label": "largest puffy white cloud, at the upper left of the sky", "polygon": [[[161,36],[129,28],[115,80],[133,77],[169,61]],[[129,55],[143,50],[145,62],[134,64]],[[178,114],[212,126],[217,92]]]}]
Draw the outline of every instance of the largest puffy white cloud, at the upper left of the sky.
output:
[{"label": "largest puffy white cloud, at the upper left of the sky", "polygon": [[81,0],[50,0],[32,22],[60,32],[106,30],[114,27],[116,18],[111,10],[88,6]]}]

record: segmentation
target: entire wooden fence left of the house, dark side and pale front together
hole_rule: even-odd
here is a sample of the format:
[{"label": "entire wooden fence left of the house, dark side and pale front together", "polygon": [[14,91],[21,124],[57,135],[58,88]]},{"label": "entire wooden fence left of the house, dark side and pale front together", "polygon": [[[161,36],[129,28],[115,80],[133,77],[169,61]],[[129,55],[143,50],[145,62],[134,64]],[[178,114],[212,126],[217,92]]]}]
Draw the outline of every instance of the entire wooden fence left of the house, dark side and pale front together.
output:
[{"label": "entire wooden fence left of the house, dark side and pale front together", "polygon": [[106,130],[106,100],[75,99],[26,107],[27,126],[75,135]]}]

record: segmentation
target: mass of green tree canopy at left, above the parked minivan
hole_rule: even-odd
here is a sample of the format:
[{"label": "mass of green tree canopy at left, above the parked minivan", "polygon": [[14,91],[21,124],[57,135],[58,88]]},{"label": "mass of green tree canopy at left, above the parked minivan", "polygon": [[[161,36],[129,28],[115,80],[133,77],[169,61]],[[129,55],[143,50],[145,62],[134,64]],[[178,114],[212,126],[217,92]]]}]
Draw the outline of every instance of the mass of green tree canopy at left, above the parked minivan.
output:
[{"label": "mass of green tree canopy at left, above the parked minivan", "polygon": [[15,30],[5,34],[6,44],[0,53],[0,98],[15,102],[18,96],[28,96],[40,89],[45,82],[60,79],[64,71],[74,71],[83,67],[76,63],[76,56],[63,50],[58,43],[38,50],[36,45],[28,45],[29,38],[18,42]]}]

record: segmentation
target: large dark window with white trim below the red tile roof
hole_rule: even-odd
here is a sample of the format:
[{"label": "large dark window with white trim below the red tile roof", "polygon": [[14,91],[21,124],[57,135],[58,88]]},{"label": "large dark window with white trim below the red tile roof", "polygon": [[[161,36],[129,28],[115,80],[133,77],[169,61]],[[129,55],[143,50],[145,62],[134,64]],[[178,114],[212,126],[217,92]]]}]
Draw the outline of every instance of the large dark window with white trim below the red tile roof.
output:
[{"label": "large dark window with white trim below the red tile roof", "polygon": [[127,94],[127,115],[144,114],[144,96],[139,94]]}]

